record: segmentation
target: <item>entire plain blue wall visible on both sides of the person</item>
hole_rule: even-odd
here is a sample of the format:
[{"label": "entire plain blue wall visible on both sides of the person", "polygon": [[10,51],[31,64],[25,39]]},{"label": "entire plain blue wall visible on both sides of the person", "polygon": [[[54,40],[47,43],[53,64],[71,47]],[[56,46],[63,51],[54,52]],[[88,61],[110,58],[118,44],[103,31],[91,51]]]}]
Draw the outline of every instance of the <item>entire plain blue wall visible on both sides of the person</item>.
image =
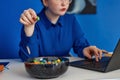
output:
[{"label": "entire plain blue wall visible on both sides of the person", "polygon": [[[120,0],[97,0],[97,14],[76,15],[88,41],[99,48],[113,51],[120,37]],[[18,58],[20,14],[33,8],[39,12],[40,0],[1,0],[0,58]]]}]

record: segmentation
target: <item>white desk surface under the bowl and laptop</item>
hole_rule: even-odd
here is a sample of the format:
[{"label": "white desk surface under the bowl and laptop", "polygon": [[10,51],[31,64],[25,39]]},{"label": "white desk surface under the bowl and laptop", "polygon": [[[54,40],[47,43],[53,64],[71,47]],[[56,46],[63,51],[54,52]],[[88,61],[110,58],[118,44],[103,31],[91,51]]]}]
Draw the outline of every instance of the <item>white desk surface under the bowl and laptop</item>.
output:
[{"label": "white desk surface under the bowl and laptop", "polygon": [[[70,61],[78,59],[80,58],[71,57]],[[19,59],[0,59],[0,61],[10,62],[7,66],[9,69],[5,69],[0,73],[0,80],[40,80],[29,76],[25,71],[24,63]],[[66,73],[58,78],[49,80],[120,80],[120,69],[108,73],[101,73],[69,66]]]}]

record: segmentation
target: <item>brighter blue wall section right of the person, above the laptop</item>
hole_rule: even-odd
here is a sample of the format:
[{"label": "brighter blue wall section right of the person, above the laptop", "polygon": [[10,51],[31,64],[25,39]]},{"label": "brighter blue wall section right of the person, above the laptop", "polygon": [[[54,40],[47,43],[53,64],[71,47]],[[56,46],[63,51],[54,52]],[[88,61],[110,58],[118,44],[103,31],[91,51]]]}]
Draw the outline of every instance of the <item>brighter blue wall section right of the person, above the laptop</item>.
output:
[{"label": "brighter blue wall section right of the person, above the laptop", "polygon": [[77,16],[91,44],[114,50],[120,38],[119,5],[120,0],[97,0],[97,14]]}]

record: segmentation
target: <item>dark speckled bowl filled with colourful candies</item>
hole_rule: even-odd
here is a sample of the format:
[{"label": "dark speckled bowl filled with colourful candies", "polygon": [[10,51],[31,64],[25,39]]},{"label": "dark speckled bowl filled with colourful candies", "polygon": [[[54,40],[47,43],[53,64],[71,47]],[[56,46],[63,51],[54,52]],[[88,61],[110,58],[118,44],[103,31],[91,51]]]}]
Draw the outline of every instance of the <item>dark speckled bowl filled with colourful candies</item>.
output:
[{"label": "dark speckled bowl filled with colourful candies", "polygon": [[67,71],[69,59],[65,57],[37,57],[29,58],[24,64],[30,76],[50,79],[59,77]]}]

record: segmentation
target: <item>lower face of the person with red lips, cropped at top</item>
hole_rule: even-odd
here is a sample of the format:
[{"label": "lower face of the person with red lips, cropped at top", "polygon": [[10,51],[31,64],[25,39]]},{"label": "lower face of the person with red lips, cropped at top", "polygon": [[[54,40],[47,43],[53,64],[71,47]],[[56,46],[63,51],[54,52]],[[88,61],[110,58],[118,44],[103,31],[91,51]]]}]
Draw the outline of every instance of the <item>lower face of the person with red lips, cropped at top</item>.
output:
[{"label": "lower face of the person with red lips, cropped at top", "polygon": [[56,16],[64,15],[71,2],[72,0],[43,0],[48,12]]}]

